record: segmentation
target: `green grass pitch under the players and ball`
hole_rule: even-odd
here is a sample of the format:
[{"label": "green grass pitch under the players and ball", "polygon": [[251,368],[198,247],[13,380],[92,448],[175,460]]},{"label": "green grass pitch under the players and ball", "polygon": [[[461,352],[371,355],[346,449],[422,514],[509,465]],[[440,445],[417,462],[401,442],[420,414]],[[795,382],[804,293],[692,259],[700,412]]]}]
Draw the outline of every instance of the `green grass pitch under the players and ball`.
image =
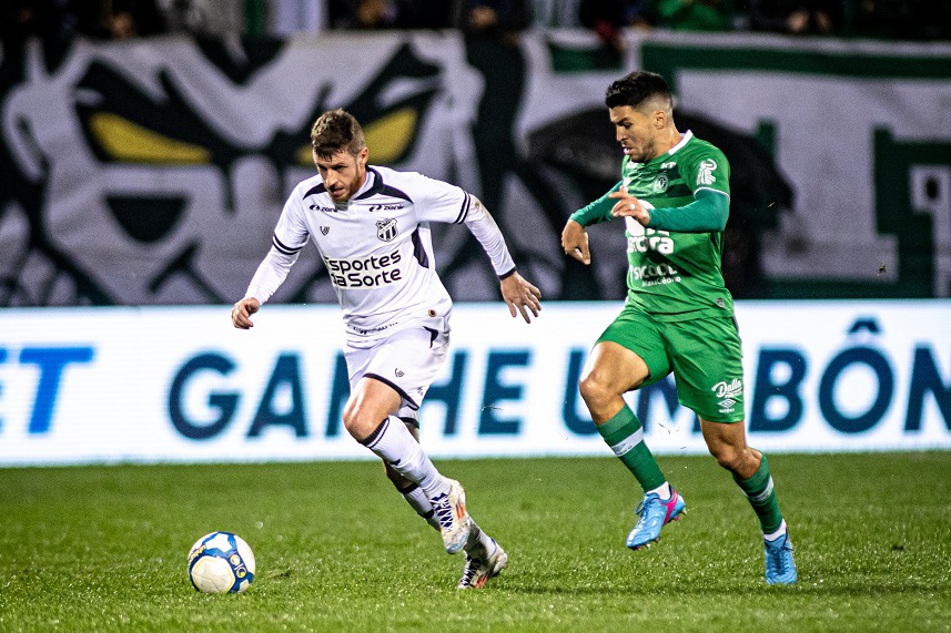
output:
[{"label": "green grass pitch under the players and ball", "polygon": [[[792,588],[712,458],[660,462],[688,513],[630,552],[617,460],[438,461],[510,557],[482,592],[376,462],[0,469],[0,631],[949,631],[951,452],[771,456]],[[216,529],[244,594],[188,581]]]}]

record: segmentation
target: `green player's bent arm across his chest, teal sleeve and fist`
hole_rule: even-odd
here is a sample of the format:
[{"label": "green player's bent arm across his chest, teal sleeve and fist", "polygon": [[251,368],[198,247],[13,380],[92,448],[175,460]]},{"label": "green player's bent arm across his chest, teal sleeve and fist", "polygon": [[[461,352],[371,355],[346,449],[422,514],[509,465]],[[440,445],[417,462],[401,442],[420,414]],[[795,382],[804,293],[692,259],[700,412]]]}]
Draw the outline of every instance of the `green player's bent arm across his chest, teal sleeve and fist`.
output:
[{"label": "green player's bent arm across his chest, teal sleeve and fist", "polygon": [[718,233],[727,226],[730,196],[711,188],[694,192],[694,202],[684,206],[646,208],[635,196],[618,192],[611,213],[615,217],[633,217],[643,226],[677,233]]}]

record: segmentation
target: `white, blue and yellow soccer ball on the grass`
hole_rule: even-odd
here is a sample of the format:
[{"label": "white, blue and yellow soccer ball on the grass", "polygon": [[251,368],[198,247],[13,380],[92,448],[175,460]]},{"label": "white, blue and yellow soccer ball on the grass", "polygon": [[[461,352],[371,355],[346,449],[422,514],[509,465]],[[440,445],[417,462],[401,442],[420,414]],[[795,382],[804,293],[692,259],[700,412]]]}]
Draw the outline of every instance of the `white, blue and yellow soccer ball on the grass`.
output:
[{"label": "white, blue and yellow soccer ball on the grass", "polygon": [[254,553],[237,534],[205,534],[189,552],[189,580],[205,593],[242,592],[254,581]]}]

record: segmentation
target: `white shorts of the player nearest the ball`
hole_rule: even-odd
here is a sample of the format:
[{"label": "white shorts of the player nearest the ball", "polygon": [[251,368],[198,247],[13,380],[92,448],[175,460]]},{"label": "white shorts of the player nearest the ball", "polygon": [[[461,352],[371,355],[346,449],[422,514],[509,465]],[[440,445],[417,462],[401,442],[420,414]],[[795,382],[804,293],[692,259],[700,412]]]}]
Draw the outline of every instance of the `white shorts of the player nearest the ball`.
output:
[{"label": "white shorts of the player nearest the ball", "polygon": [[351,392],[361,378],[375,378],[403,398],[397,417],[417,419],[423,398],[449,351],[448,324],[432,325],[439,327],[419,324],[394,331],[371,347],[346,346],[344,358]]}]

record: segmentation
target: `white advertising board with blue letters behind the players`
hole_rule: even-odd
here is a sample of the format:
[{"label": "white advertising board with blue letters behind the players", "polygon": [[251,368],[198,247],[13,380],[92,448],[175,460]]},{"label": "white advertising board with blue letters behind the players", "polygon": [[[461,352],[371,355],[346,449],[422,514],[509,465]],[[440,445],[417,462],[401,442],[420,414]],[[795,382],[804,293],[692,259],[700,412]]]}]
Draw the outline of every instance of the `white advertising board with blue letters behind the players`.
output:
[{"label": "white advertising board with blue letters behind the players", "polygon": [[[458,304],[421,409],[433,457],[610,455],[577,380],[620,304],[535,323]],[[372,457],[341,422],[335,306],[0,312],[0,466]],[[750,443],[769,452],[951,449],[951,302],[738,303]],[[706,452],[672,379],[628,395],[659,455]]]}]

